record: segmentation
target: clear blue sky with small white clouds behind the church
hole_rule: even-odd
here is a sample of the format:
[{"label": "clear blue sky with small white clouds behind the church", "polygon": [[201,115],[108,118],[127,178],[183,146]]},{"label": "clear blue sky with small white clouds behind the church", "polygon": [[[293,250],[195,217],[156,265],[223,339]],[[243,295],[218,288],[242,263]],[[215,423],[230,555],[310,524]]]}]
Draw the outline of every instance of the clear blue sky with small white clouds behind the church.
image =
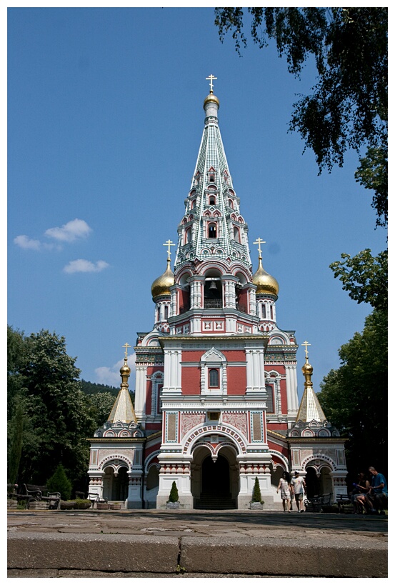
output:
[{"label": "clear blue sky with small white clouds behind the church", "polygon": [[[219,126],[254,270],[279,281],[277,323],[309,341],[314,389],[371,307],[329,269],[386,247],[355,153],[331,174],[287,132],[301,81],[274,46],[240,58],[214,8],[8,11],[8,323],[66,338],[81,377],[120,383],[127,341],[154,324],[151,284],[176,241],[214,74]],[[174,258],[174,254],[173,254]],[[134,381],[131,381],[134,389]]]}]

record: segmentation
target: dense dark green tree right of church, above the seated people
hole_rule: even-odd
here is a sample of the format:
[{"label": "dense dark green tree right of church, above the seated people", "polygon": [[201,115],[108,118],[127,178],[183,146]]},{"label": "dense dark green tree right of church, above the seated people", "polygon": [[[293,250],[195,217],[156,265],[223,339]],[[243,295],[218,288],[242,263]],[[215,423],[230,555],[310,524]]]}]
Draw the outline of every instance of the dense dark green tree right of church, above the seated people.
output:
[{"label": "dense dark green tree right of church, above the seated people", "polygon": [[374,309],[364,331],[341,346],[341,366],[321,383],[318,398],[346,441],[349,471],[387,466],[387,320]]}]

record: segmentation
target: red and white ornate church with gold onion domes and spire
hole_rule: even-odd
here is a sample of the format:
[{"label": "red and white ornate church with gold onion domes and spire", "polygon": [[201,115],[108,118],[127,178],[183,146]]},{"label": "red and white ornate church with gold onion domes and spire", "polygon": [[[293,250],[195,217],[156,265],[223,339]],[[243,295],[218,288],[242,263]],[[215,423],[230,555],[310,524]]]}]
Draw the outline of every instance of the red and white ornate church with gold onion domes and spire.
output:
[{"label": "red and white ornate church with gold onion domes and spire", "polygon": [[258,478],[264,509],[275,510],[279,479],[298,471],[307,496],[330,493],[336,501],[347,491],[345,439],[314,393],[307,341],[299,404],[295,331],[277,326],[279,283],[264,269],[260,236],[253,271],[216,78],[206,79],[184,215],[176,244],[164,244],[166,270],[151,286],[154,326],[137,333],[135,403],[126,343],[119,394],[89,439],[89,492],[127,509],[164,509],[175,481],[181,509],[243,510]]}]

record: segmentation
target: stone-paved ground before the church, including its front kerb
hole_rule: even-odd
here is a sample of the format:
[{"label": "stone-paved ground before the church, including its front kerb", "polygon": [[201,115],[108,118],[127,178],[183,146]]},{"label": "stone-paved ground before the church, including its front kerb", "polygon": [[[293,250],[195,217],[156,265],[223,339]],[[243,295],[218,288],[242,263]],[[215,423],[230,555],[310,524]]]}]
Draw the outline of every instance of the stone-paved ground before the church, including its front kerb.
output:
[{"label": "stone-paved ground before the church, including its front kerb", "polygon": [[387,517],[9,511],[9,577],[386,577]]}]

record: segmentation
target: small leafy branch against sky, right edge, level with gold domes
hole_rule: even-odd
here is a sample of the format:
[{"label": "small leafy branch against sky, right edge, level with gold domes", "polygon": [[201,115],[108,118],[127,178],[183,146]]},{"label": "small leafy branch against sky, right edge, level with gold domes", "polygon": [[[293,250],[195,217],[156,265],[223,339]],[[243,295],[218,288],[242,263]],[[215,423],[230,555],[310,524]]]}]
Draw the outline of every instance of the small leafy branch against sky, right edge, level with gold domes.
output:
[{"label": "small leafy branch against sky, right edge, level with gold domes", "polygon": [[357,303],[369,303],[375,309],[386,311],[388,306],[388,251],[376,257],[368,248],[356,254],[341,254],[343,261],[329,266],[335,278],[343,283],[343,290]]}]

